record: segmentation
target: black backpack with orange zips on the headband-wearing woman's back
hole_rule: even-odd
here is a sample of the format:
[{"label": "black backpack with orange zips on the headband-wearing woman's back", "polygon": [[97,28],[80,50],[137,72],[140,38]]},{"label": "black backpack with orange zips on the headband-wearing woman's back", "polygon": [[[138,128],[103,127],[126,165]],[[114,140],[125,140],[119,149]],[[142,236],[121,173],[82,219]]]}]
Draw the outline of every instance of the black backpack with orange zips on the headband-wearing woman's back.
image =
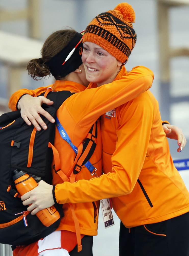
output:
[{"label": "black backpack with orange zips on the headband-wearing woman's back", "polygon": [[[52,106],[44,104],[43,108],[55,118],[56,110],[72,94],[74,93],[70,91],[50,92],[47,98],[53,100],[54,104]],[[0,243],[15,246],[31,244],[55,231],[61,220],[60,218],[51,226],[45,227],[35,215],[28,214],[26,217],[28,226],[25,227],[23,216],[15,215],[27,211],[27,206],[24,206],[21,199],[17,197],[18,193],[12,180],[12,172],[15,169],[26,171],[37,182],[42,179],[51,184],[52,181],[53,151],[48,147],[48,142],[54,143],[55,124],[49,122],[44,116],[41,118],[48,129],[36,131],[32,145],[33,155],[31,156],[30,153],[29,156],[34,126],[28,126],[24,122],[19,110],[5,113],[0,117]],[[83,144],[84,148],[86,144],[87,141]],[[90,156],[95,146],[96,144],[93,145]],[[63,217],[62,205],[55,204],[55,207]]]}]

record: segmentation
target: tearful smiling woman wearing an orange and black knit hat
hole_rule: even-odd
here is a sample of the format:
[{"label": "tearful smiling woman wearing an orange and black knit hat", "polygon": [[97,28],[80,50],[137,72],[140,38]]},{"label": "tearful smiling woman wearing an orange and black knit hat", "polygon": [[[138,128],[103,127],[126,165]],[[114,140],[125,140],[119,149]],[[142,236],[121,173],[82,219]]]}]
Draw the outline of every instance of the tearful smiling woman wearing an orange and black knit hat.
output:
[{"label": "tearful smiling woman wearing an orange and black knit hat", "polygon": [[[127,74],[123,66],[135,45],[134,11],[127,3],[102,13],[87,26],[82,61],[88,88]],[[114,72],[113,72],[114,71]],[[116,72],[115,72],[116,71]],[[117,74],[116,74],[117,73]],[[149,77],[150,79],[150,77]],[[139,78],[138,83],[143,83]],[[54,203],[92,202],[112,198],[121,219],[120,255],[178,256],[189,252],[189,193],[173,165],[163,133],[157,100],[149,91],[101,117],[104,175],[64,182],[52,188],[43,183],[22,196],[35,202],[33,213]],[[48,202],[40,198],[46,188]]]}]

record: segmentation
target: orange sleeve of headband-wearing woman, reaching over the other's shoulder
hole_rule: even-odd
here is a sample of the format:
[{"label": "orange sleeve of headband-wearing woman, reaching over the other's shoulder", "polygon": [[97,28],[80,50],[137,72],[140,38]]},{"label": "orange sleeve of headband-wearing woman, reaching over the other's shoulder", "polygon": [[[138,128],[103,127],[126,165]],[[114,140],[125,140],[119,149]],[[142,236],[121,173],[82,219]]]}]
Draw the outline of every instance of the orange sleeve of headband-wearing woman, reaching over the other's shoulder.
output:
[{"label": "orange sleeve of headband-wearing woman, reaching over the other's shoulder", "polygon": [[154,74],[150,69],[137,66],[119,80],[72,95],[65,105],[75,123],[87,127],[93,125],[102,114],[148,90],[153,79]]}]

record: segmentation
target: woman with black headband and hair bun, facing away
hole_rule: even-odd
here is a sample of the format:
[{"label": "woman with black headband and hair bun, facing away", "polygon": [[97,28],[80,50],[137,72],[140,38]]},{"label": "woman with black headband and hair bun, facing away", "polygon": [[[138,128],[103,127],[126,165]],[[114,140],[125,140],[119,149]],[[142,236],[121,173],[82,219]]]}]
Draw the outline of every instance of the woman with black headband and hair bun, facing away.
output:
[{"label": "woman with black headband and hair bun, facing away", "polygon": [[[42,58],[31,60],[27,67],[29,74],[36,80],[51,73],[56,79],[55,83],[51,85],[54,91],[69,90],[76,93],[70,96],[58,109],[57,117],[70,136],[72,143],[77,147],[86,138],[91,126],[100,115],[138,96],[149,89],[153,82],[152,71],[141,66],[133,68],[127,76],[122,77],[119,85],[113,82],[102,87],[85,90],[89,82],[85,78],[85,70],[81,60],[83,50],[81,39],[82,35],[72,29],[54,32],[46,39],[43,45],[41,52]],[[119,73],[122,64],[116,60],[115,65],[116,69],[113,70],[114,76]],[[111,72],[111,68],[110,66],[110,70],[107,71]],[[143,82],[137,83],[138,78],[141,78]],[[29,125],[32,122],[37,130],[41,129],[39,124],[44,129],[47,127],[40,120],[39,114],[31,110],[32,107],[35,107],[39,102],[49,105],[52,102],[44,96],[32,96],[36,96],[36,94],[40,94],[46,89],[46,87],[36,90],[22,89],[10,98],[9,107],[12,110],[21,109],[23,119]],[[33,115],[26,110],[26,105],[30,106],[29,111],[31,110],[30,112]],[[39,109],[38,113],[54,121],[44,110]],[[100,176],[102,174],[102,143],[99,120],[97,121],[97,130],[97,146],[90,158],[90,162],[96,169],[96,176]],[[61,138],[57,129],[55,132],[54,146],[59,152],[61,170],[67,175],[74,162],[75,152]],[[53,185],[62,183],[61,178],[54,170],[52,171],[52,175]],[[85,166],[82,167],[81,172],[75,175],[75,181],[80,179],[89,180],[91,178],[91,173]],[[43,197],[46,197],[46,193],[44,193]],[[49,201],[49,203],[51,204],[52,202]],[[62,218],[58,231],[29,246],[17,247],[13,252],[14,256],[56,256],[68,255],[68,253],[69,255],[92,255],[93,235],[97,235],[98,208],[98,201],[74,204],[74,212],[79,221],[81,233],[81,236],[79,234],[81,238],[78,238],[75,233],[75,219],[72,216],[72,209],[69,204],[65,203],[63,205],[65,217]],[[55,248],[58,249],[55,250]],[[78,251],[80,252],[78,253]]]}]

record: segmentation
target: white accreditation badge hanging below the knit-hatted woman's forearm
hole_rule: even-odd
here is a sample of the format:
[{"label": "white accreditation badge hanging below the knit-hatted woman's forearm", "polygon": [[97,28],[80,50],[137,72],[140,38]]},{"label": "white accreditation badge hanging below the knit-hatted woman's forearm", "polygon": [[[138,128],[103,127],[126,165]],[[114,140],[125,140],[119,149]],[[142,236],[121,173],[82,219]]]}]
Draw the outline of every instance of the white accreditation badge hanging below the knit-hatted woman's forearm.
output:
[{"label": "white accreditation badge hanging below the knit-hatted woman's forearm", "polygon": [[102,199],[100,200],[100,204],[101,204],[105,229],[111,226],[114,226],[115,224],[114,224],[114,219],[111,212],[110,199],[109,198]]}]

